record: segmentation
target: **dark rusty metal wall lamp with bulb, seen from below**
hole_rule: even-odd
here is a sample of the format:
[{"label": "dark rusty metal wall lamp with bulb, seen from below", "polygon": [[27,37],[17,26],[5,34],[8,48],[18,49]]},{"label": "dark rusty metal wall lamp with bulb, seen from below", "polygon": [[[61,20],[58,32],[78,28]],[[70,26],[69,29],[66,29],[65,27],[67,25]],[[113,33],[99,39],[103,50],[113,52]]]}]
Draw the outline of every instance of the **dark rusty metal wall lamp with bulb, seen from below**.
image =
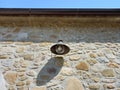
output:
[{"label": "dark rusty metal wall lamp with bulb, seen from below", "polygon": [[70,51],[70,48],[65,45],[62,40],[58,40],[58,43],[53,45],[50,50],[56,55],[64,55]]}]

